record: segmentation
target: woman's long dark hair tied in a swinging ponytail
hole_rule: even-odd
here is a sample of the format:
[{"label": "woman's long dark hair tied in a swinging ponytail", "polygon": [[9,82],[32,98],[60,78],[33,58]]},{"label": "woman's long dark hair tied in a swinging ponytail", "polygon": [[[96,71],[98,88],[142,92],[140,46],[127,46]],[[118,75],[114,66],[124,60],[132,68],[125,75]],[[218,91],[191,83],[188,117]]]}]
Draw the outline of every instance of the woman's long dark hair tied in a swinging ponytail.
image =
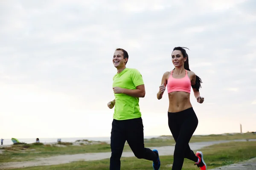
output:
[{"label": "woman's long dark hair tied in a swinging ponytail", "polygon": [[[186,61],[184,62],[184,68],[188,71],[190,71],[189,69],[189,55],[186,53],[186,50],[184,49],[186,47],[175,47],[173,48],[173,51],[175,50],[179,50],[181,51],[181,54],[183,55],[183,57],[186,57]],[[187,48],[189,50],[189,48]],[[175,69],[175,68],[174,68]],[[195,85],[192,85],[192,88],[196,88],[197,91],[199,91],[199,88],[201,88],[201,83],[202,80],[200,77],[198,77],[197,75],[195,75]]]}]

